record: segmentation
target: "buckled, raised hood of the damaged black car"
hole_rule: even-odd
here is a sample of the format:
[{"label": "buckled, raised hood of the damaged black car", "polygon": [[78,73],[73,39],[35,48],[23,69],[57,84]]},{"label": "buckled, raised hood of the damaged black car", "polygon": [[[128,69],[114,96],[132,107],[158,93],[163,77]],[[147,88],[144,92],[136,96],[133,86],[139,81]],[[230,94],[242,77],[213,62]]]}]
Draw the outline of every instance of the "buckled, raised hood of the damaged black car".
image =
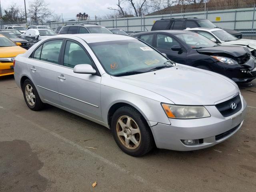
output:
[{"label": "buckled, raised hood of the damaged black car", "polygon": [[234,57],[240,57],[248,53],[247,47],[242,46],[232,46],[232,45],[220,45],[215,47],[208,47],[202,49],[196,49],[198,53],[210,53],[210,54],[229,54]]}]

